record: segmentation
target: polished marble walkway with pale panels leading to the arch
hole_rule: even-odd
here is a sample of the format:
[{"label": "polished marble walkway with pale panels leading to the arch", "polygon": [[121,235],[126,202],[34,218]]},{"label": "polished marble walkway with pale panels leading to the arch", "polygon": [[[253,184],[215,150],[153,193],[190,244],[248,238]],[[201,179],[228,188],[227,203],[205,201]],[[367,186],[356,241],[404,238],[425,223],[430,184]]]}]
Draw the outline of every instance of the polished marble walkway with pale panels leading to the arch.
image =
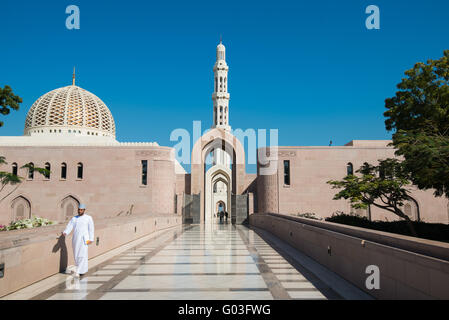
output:
[{"label": "polished marble walkway with pale panels leading to the arch", "polygon": [[256,232],[231,224],[168,230],[33,299],[339,299]]}]

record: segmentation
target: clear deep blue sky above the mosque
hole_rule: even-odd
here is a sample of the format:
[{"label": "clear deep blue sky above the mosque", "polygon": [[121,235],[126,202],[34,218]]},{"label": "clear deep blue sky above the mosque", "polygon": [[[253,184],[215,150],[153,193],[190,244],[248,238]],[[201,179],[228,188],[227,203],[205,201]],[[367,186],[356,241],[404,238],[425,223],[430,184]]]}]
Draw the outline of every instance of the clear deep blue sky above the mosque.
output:
[{"label": "clear deep blue sky above the mosque", "polygon": [[[68,30],[77,5],[81,29]],[[367,30],[365,8],[381,11]],[[42,94],[71,83],[111,110],[119,141],[173,146],[212,123],[215,47],[230,67],[233,128],[279,129],[279,145],[389,139],[384,100],[403,72],[449,49],[449,1],[2,0],[0,86],[23,98],[1,135],[21,135]]]}]

